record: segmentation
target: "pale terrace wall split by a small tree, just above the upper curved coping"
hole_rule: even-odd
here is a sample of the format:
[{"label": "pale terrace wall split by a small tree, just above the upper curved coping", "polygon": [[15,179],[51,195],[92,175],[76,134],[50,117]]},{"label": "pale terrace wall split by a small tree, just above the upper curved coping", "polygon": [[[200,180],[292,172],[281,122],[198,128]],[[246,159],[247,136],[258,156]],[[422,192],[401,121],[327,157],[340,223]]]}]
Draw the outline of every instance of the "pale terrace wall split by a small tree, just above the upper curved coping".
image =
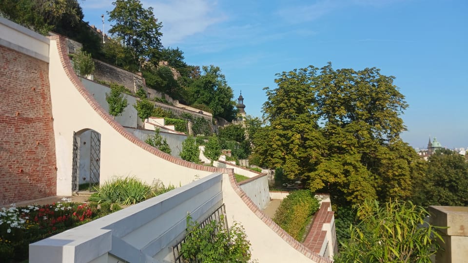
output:
[{"label": "pale terrace wall split by a small tree, just above the upper curved coping", "polygon": [[[79,79],[89,93],[91,93],[91,95],[93,95],[93,97],[98,101],[99,105],[109,113],[109,103],[107,103],[106,100],[106,93],[110,93],[111,88],[87,78],[80,77]],[[127,99],[128,106],[125,108],[122,115],[117,116],[115,120],[122,126],[137,128],[138,115],[137,110],[133,107],[133,105],[137,104],[137,98],[129,94],[123,94],[123,96]]]}]

